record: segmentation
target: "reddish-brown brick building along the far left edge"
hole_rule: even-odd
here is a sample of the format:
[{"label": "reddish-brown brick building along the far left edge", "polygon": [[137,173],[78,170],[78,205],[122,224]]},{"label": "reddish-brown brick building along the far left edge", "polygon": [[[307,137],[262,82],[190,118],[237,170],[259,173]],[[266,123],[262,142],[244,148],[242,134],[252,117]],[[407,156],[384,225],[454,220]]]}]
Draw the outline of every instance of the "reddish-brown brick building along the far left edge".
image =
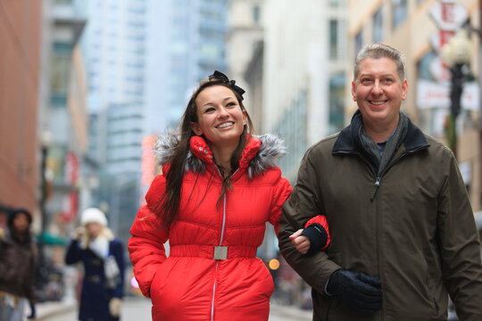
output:
[{"label": "reddish-brown brick building along the far left edge", "polygon": [[0,226],[13,208],[38,221],[42,2],[0,3]]}]

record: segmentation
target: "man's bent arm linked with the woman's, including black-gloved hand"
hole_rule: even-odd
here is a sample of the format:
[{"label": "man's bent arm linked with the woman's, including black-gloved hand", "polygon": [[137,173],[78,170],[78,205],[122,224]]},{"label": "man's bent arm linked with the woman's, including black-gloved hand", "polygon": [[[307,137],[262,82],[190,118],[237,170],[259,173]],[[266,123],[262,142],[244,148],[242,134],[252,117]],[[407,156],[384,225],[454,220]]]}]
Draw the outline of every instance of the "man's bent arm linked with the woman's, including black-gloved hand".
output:
[{"label": "man's bent arm linked with the woman's, including black-gloved hand", "polygon": [[382,306],[380,280],[361,272],[343,269],[328,259],[325,251],[303,255],[290,242],[289,235],[303,228],[303,224],[317,217],[318,213],[325,213],[320,201],[323,179],[317,169],[320,169],[320,164],[312,161],[309,150],[300,165],[293,193],[283,206],[279,231],[281,254],[303,280],[321,295],[335,295],[350,309],[363,315],[373,314]]}]

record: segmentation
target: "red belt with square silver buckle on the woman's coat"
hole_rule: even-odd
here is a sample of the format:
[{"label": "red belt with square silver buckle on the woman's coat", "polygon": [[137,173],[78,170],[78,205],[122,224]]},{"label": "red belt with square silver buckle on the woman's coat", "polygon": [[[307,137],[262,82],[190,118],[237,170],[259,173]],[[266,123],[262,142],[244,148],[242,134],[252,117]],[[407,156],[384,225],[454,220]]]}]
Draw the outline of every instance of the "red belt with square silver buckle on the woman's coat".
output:
[{"label": "red belt with square silver buckle on the woman's coat", "polygon": [[198,257],[206,259],[255,258],[255,246],[212,246],[212,245],[171,245],[171,257]]}]

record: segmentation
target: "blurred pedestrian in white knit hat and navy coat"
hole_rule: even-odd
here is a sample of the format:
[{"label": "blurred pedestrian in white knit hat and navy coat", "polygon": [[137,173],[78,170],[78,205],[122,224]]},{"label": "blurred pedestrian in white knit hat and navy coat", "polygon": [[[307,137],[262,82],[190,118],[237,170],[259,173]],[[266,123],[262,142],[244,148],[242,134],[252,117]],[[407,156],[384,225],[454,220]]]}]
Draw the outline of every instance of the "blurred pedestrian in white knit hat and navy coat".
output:
[{"label": "blurred pedestrian in white knit hat and navy coat", "polygon": [[84,265],[79,320],[120,320],[124,288],[123,245],[112,235],[101,210],[84,210],[80,224],[65,256],[67,264],[81,261]]}]

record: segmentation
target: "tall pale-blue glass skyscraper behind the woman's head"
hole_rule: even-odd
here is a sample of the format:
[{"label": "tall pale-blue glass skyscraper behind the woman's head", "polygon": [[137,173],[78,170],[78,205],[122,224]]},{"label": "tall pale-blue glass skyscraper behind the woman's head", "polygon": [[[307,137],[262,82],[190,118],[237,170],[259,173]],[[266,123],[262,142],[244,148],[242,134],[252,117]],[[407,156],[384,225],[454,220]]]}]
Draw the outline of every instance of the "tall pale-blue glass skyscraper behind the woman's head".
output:
[{"label": "tall pale-blue glass skyscraper behind the woman's head", "polygon": [[75,3],[88,19],[82,50],[89,155],[100,170],[96,202],[104,204],[114,232],[127,242],[127,224],[145,193],[142,141],[177,127],[197,83],[213,70],[226,70],[228,1]]}]

